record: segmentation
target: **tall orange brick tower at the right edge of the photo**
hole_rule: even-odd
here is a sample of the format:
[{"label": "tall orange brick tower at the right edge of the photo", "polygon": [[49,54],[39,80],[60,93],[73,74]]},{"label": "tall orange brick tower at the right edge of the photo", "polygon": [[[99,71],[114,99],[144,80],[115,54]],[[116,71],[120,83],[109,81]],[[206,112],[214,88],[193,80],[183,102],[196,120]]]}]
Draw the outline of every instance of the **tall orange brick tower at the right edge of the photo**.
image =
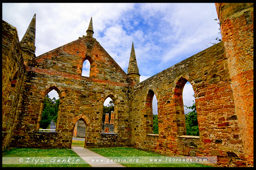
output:
[{"label": "tall orange brick tower at the right edge of the photo", "polygon": [[253,165],[253,3],[216,3],[245,157]]}]

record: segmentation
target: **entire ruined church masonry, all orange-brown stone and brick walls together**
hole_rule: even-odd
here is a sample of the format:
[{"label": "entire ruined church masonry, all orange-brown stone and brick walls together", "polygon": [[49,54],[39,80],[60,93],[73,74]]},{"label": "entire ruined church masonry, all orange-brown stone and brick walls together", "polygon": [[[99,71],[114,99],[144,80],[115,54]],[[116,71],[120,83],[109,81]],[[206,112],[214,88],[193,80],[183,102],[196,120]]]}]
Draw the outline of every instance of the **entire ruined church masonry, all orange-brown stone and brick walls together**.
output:
[{"label": "entire ruined church masonry, all orange-brown stone and brick walls together", "polygon": [[[223,42],[141,83],[120,68],[92,30],[35,57],[34,44],[21,49],[16,28],[3,21],[2,149],[71,148],[74,126],[82,120],[88,148],[133,146],[169,156],[216,156],[218,166],[253,166],[253,6],[216,7]],[[35,15],[32,21],[28,33],[34,35]],[[84,60],[91,64],[90,77],[81,76]],[[187,81],[195,91],[199,136],[186,135]],[[60,99],[56,132],[38,132],[45,96],[53,89]],[[159,134],[152,134],[154,94]],[[108,97],[115,106],[114,133],[105,134]]]}]

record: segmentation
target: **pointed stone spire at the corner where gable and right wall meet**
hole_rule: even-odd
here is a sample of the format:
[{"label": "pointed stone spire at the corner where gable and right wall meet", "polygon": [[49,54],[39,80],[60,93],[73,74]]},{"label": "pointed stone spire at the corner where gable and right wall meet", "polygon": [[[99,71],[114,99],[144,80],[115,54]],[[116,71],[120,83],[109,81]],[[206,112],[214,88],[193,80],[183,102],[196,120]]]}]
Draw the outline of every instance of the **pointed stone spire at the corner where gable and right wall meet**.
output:
[{"label": "pointed stone spire at the corner where gable and right wall meet", "polygon": [[140,81],[139,67],[135,56],[134,44],[132,44],[132,50],[130,55],[129,66],[127,69],[127,75],[134,79],[137,83]]}]

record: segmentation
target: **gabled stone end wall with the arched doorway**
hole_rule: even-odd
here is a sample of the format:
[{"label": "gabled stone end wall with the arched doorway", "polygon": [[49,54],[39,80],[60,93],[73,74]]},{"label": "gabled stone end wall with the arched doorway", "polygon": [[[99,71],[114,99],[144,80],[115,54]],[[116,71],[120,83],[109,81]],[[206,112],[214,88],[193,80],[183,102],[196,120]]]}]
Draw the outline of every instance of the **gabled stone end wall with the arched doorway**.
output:
[{"label": "gabled stone end wall with the arched doorway", "polygon": [[[90,77],[81,76],[82,63],[91,63]],[[13,143],[20,147],[44,147],[30,140],[39,129],[46,94],[55,89],[60,104],[56,125],[57,147],[71,147],[77,117],[86,123],[87,147],[102,145],[103,103],[109,96],[115,105],[115,133],[119,145],[130,143],[130,91],[132,80],[104,51],[96,39],[83,36],[28,64],[24,83],[23,113]],[[81,115],[83,115],[81,117]],[[80,119],[79,118],[79,119]]]}]

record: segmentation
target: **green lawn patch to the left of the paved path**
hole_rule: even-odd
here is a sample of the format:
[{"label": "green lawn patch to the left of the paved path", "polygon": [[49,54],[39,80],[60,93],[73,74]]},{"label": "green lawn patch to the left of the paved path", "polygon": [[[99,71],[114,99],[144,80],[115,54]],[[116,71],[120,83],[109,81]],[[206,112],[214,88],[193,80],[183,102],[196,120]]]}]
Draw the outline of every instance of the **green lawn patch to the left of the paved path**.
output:
[{"label": "green lawn patch to the left of the paved path", "polygon": [[[3,167],[90,167],[71,149],[14,148],[3,152],[3,159],[12,158],[16,164],[3,164]],[[34,159],[33,159],[34,158]],[[9,158],[8,158],[9,159]],[[79,163],[76,161],[79,159]],[[59,162],[58,162],[59,160]],[[36,162],[37,161],[37,162]],[[40,163],[43,161],[44,164]],[[29,162],[29,163],[26,163]],[[4,163],[4,162],[3,162]]]}]

